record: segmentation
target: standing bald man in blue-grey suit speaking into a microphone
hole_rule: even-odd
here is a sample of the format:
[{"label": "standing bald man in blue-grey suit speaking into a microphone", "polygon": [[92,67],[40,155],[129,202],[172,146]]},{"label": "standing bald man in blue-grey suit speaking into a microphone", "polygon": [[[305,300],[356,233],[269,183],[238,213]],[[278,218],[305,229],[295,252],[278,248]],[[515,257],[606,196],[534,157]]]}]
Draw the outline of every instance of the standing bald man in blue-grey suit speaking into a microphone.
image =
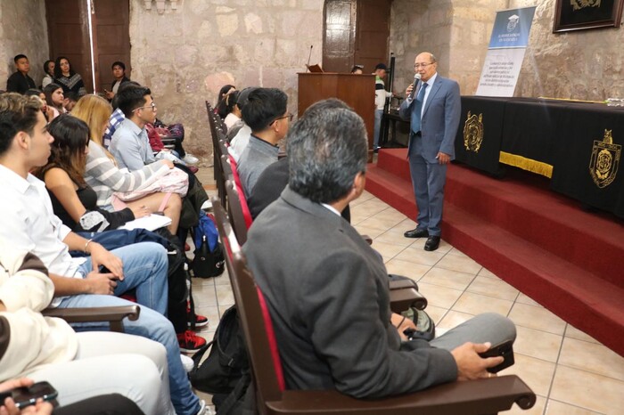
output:
[{"label": "standing bald man in blue-grey suit speaking into a microphone", "polygon": [[406,90],[407,99],[399,115],[411,120],[407,157],[418,207],[415,229],[406,238],[427,237],[424,250],[439,247],[441,235],[444,183],[447,164],[455,159],[455,135],[459,126],[461,98],[456,81],[440,77],[438,62],[429,52],[416,56],[415,72],[420,74],[417,91]]}]

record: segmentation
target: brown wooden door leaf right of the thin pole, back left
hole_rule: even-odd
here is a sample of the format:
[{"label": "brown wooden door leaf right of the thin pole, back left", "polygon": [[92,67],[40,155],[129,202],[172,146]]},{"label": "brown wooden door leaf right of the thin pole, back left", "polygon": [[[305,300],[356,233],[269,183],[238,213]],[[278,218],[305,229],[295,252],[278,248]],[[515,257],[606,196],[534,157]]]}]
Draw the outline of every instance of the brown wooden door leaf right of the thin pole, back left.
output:
[{"label": "brown wooden door leaf right of the thin pole, back left", "polygon": [[95,91],[111,90],[111,65],[126,64],[130,77],[130,8],[128,0],[97,0],[92,15],[94,25]]}]

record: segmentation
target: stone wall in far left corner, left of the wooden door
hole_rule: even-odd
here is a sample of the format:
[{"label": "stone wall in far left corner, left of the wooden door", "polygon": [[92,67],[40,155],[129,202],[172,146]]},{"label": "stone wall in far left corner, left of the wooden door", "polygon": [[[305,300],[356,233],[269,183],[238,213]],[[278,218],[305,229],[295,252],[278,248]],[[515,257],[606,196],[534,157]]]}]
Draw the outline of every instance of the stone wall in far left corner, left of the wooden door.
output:
[{"label": "stone wall in far left corner, left of the wooden door", "polygon": [[49,50],[45,1],[0,0],[0,45],[0,89],[6,89],[6,79],[16,70],[13,57],[20,53],[29,57],[29,76],[40,85]]}]

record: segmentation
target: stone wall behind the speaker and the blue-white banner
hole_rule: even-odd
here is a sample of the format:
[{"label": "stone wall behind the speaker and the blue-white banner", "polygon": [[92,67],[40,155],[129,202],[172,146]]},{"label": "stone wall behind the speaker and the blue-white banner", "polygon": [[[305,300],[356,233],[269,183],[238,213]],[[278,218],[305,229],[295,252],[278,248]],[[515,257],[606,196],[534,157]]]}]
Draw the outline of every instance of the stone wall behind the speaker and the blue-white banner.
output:
[{"label": "stone wall behind the speaker and the blue-white banner", "polygon": [[395,0],[390,51],[397,56],[395,91],[414,78],[415,55],[436,54],[442,76],[462,94],[477,90],[497,10],[537,5],[515,96],[602,101],[624,96],[623,28],[553,33],[554,0]]}]

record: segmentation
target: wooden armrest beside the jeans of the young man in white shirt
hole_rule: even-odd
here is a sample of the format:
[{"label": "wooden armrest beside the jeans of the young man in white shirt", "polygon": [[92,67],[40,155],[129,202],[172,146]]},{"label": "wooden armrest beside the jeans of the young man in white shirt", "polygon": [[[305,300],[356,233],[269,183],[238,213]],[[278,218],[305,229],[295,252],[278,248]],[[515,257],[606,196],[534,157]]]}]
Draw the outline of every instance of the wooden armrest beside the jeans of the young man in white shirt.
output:
[{"label": "wooden armrest beside the jeans of the young man in white shirt", "polygon": [[120,305],[114,307],[93,308],[46,308],[42,314],[46,317],[59,317],[67,322],[108,321],[112,331],[124,331],[122,321],[127,317],[136,321],[141,313],[138,305]]}]

